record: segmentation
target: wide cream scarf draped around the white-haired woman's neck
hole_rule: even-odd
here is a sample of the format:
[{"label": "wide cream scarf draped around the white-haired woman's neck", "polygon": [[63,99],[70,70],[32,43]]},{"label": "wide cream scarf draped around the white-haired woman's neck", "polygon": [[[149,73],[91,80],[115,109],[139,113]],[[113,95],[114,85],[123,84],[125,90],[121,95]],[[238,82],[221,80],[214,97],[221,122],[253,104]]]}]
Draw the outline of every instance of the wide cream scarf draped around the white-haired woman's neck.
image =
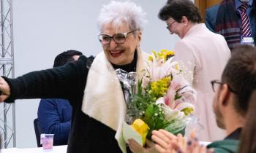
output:
[{"label": "wide cream scarf draped around the white-haired woman's neck", "polygon": [[[138,59],[136,72],[142,78],[147,54],[137,49]],[[116,76],[116,71],[101,52],[91,64],[83,95],[83,113],[97,119],[102,124],[116,130],[116,140],[122,152],[127,152],[122,136],[122,124],[126,113],[124,93]]]}]

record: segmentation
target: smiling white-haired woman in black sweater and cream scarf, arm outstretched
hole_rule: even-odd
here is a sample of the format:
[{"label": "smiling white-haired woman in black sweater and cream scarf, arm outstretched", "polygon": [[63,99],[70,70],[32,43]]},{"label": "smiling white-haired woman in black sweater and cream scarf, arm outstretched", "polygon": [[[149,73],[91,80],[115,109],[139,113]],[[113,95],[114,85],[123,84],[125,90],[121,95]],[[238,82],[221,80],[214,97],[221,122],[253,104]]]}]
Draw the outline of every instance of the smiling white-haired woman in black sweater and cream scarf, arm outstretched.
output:
[{"label": "smiling white-haired woman in black sweater and cream scarf, arm outstretched", "polygon": [[[132,2],[111,1],[99,15],[99,42],[104,52],[77,62],[17,79],[0,78],[0,101],[65,98],[73,107],[67,152],[127,152],[121,136],[126,105],[116,68],[141,71],[140,51],[145,13]],[[91,63],[91,61],[93,62]]]}]

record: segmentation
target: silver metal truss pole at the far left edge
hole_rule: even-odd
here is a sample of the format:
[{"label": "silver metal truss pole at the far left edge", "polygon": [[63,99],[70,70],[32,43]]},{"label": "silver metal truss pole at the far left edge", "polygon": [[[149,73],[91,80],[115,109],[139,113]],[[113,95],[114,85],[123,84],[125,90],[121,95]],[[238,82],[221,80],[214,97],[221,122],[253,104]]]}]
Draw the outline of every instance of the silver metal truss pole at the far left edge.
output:
[{"label": "silver metal truss pole at the far left edge", "polygon": [[[1,3],[1,58],[0,69],[3,76],[14,78],[14,59],[13,59],[13,25],[12,25],[12,0],[0,0]],[[6,9],[6,10],[5,10]],[[6,11],[6,12],[5,12]],[[11,72],[11,73],[10,73]],[[12,106],[12,113],[10,107]],[[1,119],[4,131],[4,141],[2,142],[4,148],[7,148],[10,141],[13,141],[13,146],[16,146],[16,133],[15,133],[15,104],[4,103],[4,117]],[[10,122],[12,126],[10,126]]]}]

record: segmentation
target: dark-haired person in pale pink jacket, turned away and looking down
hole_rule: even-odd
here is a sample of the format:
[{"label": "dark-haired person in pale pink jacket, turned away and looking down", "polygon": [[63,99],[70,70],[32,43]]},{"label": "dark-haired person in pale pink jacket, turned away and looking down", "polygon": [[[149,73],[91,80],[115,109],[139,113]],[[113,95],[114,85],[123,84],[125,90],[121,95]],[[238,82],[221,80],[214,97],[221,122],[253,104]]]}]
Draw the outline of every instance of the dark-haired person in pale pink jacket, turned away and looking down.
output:
[{"label": "dark-haired person in pale pink jacket, turned away and looking down", "polygon": [[201,16],[190,0],[170,0],[159,11],[159,18],[167,23],[170,34],[177,34],[181,40],[176,43],[175,57],[191,74],[192,87],[197,90],[196,117],[204,130],[200,130],[200,141],[214,141],[223,138],[224,131],[214,124],[211,109],[214,93],[208,85],[214,78],[220,78],[230,58],[230,50],[223,36],[214,34],[200,23]]}]

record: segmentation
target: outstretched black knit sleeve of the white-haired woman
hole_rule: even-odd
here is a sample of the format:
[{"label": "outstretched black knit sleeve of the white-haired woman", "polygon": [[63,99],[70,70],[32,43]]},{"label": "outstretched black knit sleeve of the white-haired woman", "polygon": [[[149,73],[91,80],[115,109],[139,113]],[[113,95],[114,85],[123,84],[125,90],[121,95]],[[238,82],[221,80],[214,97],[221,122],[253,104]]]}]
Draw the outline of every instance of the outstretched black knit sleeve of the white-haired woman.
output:
[{"label": "outstretched black knit sleeve of the white-haired woman", "polygon": [[24,98],[64,98],[72,100],[83,95],[89,71],[90,58],[80,56],[78,61],[42,71],[33,71],[17,79],[4,77],[11,95],[5,102]]}]

